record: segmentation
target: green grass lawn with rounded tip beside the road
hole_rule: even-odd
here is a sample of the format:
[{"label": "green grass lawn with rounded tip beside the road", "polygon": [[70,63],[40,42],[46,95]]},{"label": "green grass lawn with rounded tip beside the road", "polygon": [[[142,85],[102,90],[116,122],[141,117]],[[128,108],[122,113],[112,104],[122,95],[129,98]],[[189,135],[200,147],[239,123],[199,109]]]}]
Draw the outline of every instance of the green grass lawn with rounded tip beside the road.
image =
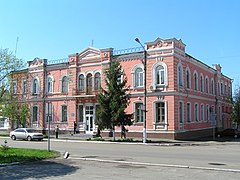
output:
[{"label": "green grass lawn with rounded tip beside the road", "polygon": [[0,146],[0,164],[36,161],[59,156],[56,151],[20,149]]}]

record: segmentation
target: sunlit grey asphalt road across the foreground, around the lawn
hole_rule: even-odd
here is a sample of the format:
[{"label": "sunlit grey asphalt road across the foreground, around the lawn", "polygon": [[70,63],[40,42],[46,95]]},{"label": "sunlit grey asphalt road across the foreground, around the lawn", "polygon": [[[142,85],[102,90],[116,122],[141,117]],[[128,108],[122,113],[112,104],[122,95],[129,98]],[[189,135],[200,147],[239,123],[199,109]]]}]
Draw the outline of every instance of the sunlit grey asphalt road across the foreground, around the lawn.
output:
[{"label": "sunlit grey asphalt road across the foreground, around the lawn", "polygon": [[[4,139],[0,139],[0,142]],[[13,147],[47,149],[47,141],[12,141]],[[0,179],[239,179],[240,143],[194,146],[51,141],[63,157],[0,167]]]}]

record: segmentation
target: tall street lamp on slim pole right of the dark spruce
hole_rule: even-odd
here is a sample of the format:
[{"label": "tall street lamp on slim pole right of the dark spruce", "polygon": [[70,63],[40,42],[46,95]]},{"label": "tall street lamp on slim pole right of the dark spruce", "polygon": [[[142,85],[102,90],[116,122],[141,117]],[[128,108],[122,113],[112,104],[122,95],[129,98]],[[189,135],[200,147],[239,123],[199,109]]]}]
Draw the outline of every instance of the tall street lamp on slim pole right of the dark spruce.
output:
[{"label": "tall street lamp on slim pole right of the dark spruce", "polygon": [[147,132],[146,132],[146,118],[147,118],[147,51],[145,50],[145,47],[142,45],[140,40],[138,38],[135,38],[135,41],[139,43],[142,48],[144,49],[144,61],[143,66],[144,66],[144,102],[143,102],[143,112],[144,112],[144,120],[143,120],[143,143],[146,143],[147,139]]}]

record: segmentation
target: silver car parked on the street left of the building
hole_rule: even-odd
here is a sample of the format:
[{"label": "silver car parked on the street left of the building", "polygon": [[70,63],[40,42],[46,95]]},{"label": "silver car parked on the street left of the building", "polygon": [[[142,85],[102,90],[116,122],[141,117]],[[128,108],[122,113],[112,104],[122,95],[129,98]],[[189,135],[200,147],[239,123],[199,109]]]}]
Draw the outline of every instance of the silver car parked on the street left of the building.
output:
[{"label": "silver car parked on the street left of the building", "polygon": [[41,141],[43,139],[43,134],[36,132],[36,130],[31,128],[18,128],[10,132],[10,137],[12,140],[26,139],[28,141],[31,141],[37,139]]}]

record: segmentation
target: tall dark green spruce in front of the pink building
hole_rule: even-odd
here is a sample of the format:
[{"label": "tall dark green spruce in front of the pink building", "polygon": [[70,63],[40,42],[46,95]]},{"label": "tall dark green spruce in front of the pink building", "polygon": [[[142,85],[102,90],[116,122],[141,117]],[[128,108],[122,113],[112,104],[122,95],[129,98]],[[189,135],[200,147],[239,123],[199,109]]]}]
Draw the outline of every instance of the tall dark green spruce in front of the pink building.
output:
[{"label": "tall dark green spruce in front of the pink building", "polygon": [[99,108],[96,124],[100,130],[105,128],[113,131],[115,126],[131,125],[131,115],[126,114],[125,109],[129,104],[129,88],[127,78],[119,62],[113,61],[105,71],[106,89],[98,94]]}]

